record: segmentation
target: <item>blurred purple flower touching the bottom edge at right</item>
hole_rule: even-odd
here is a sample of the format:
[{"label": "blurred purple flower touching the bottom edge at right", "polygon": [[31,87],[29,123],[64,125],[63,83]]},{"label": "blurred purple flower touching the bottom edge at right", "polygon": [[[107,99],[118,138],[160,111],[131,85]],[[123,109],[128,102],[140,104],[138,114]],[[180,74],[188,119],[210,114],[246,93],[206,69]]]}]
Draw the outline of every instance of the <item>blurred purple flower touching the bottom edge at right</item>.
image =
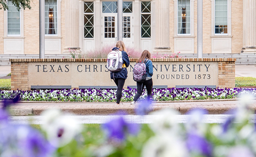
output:
[{"label": "blurred purple flower touching the bottom edge at right", "polygon": [[200,153],[203,156],[212,156],[212,145],[202,136],[188,133],[187,148],[190,152]]}]

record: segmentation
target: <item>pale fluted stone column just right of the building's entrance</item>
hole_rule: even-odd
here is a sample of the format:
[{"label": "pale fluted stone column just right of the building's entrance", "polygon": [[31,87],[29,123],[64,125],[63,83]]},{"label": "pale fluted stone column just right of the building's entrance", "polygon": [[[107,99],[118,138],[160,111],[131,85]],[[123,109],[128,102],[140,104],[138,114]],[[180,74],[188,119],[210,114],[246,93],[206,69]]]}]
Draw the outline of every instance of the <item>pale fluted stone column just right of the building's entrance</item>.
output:
[{"label": "pale fluted stone column just right of the building's entrance", "polygon": [[169,1],[156,0],[155,21],[156,21],[156,39],[154,52],[166,53],[170,50],[170,33],[169,33]]}]

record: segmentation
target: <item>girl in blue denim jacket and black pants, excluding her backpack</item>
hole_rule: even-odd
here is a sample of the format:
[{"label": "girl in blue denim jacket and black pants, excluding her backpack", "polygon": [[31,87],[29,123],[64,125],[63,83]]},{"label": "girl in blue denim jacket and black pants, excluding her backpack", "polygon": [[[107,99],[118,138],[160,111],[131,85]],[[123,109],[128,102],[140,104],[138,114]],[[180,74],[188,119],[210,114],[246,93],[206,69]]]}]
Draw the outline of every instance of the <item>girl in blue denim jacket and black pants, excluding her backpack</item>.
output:
[{"label": "girl in blue denim jacket and black pants, excluding her backpack", "polygon": [[147,89],[147,100],[152,100],[152,76],[153,76],[153,65],[152,61],[150,60],[150,52],[148,50],[144,50],[139,59],[136,63],[143,62],[146,65],[146,80],[144,82],[137,82],[137,94],[134,96],[133,101],[130,103],[131,105],[134,105],[135,102],[138,100],[138,98],[141,96],[144,87],[146,86]]}]

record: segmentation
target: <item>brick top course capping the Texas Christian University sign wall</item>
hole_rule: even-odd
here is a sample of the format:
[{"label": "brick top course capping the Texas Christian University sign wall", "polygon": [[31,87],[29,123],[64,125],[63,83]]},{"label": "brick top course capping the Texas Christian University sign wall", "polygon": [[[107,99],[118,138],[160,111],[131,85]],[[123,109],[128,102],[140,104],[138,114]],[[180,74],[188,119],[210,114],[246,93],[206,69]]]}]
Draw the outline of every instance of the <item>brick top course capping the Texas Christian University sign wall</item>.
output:
[{"label": "brick top course capping the Texas Christian University sign wall", "polygon": [[[130,58],[136,62],[137,58]],[[151,58],[153,62],[235,62],[236,58]],[[10,62],[107,62],[107,58],[35,58],[9,59]]]}]

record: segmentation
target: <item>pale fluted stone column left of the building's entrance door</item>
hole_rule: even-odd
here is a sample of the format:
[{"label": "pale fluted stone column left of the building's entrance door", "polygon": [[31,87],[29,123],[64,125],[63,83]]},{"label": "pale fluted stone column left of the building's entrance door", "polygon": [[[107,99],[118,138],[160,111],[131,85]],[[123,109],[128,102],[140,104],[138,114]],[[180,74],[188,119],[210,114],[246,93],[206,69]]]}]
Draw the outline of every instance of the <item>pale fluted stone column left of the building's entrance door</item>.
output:
[{"label": "pale fluted stone column left of the building's entrance door", "polygon": [[79,47],[79,0],[65,0],[65,47],[81,52]]}]

